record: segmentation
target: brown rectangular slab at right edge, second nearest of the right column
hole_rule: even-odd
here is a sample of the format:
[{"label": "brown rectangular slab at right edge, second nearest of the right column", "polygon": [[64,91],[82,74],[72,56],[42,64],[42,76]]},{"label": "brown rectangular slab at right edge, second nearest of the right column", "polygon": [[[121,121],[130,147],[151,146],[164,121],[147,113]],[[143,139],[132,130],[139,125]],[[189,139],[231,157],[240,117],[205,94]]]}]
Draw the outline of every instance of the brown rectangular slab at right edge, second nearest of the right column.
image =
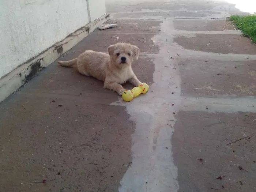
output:
[{"label": "brown rectangular slab at right edge, second nearest of the right column", "polygon": [[[256,95],[254,61],[187,59],[179,63],[181,93],[204,95]],[[246,74],[246,76],[244,75]],[[223,83],[225,82],[225,83]]]}]

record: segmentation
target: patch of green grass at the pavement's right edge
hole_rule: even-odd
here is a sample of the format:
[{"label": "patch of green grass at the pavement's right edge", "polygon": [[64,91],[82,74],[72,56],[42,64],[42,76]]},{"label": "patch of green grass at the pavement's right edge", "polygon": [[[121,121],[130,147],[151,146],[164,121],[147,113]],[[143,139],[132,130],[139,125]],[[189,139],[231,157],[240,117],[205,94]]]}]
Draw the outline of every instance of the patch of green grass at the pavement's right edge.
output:
[{"label": "patch of green grass at the pavement's right edge", "polygon": [[256,15],[238,16],[232,15],[230,20],[240,29],[244,35],[249,36],[256,43]]}]

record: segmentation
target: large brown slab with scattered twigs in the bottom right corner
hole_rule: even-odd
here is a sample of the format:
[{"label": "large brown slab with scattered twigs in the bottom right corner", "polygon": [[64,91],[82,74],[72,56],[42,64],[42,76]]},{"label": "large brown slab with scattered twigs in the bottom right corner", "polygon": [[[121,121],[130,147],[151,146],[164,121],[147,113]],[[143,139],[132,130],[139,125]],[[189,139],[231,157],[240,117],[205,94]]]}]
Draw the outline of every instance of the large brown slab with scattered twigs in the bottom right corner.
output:
[{"label": "large brown slab with scattered twigs in the bottom right corner", "polygon": [[172,137],[179,192],[255,190],[255,118],[255,113],[179,112]]}]

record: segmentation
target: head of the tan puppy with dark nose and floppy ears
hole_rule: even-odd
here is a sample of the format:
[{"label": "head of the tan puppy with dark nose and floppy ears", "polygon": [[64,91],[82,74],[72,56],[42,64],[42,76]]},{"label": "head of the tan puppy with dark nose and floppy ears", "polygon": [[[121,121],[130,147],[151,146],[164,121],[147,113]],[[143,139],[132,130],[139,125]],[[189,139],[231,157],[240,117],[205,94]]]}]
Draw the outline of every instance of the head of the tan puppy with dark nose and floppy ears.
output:
[{"label": "head of the tan puppy with dark nose and floppy ears", "polygon": [[140,49],[135,45],[117,43],[110,45],[108,52],[112,63],[118,65],[118,67],[124,67],[131,65],[133,59],[138,60]]}]

